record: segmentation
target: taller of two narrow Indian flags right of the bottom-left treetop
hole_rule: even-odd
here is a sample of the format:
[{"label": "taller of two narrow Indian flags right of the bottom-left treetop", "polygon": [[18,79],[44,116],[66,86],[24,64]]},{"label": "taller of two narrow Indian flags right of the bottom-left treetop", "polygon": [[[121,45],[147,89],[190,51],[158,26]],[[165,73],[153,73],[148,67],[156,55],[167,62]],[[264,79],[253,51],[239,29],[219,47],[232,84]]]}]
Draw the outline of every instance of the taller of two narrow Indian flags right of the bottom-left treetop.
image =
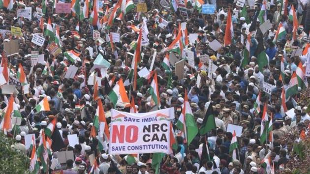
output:
[{"label": "taller of two narrow Indian flags right of the bottom-left treetop", "polygon": [[39,146],[38,146],[36,153],[37,153],[38,158],[40,159],[40,161],[42,163],[43,171],[47,172],[48,152],[47,152],[46,138],[45,138],[44,131],[41,132],[40,143],[39,143]]}]

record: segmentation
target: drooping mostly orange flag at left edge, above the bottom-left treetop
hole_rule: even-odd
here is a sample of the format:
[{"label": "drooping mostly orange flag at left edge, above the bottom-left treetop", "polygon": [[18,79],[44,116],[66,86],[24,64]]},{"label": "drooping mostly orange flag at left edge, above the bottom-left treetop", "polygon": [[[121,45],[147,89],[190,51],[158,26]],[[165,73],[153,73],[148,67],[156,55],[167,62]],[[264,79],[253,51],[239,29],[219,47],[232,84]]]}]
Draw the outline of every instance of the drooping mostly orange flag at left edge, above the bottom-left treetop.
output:
[{"label": "drooping mostly orange flag at left edge, above the bottom-left treetop", "polygon": [[14,108],[14,97],[11,95],[7,106],[4,108],[3,112],[4,116],[2,116],[0,128],[2,131],[6,132],[12,128],[11,124],[11,114],[13,113]]}]

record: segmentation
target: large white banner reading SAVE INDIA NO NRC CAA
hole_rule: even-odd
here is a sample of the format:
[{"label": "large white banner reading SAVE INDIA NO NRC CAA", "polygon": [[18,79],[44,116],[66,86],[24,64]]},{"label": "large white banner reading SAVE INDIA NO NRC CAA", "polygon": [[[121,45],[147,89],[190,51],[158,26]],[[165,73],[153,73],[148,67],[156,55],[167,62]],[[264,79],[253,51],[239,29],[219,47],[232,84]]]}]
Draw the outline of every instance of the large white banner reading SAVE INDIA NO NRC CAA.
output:
[{"label": "large white banner reading SAVE INDIA NO NRC CAA", "polygon": [[126,113],[111,110],[109,153],[169,154],[170,119],[174,117],[173,108],[148,113]]}]

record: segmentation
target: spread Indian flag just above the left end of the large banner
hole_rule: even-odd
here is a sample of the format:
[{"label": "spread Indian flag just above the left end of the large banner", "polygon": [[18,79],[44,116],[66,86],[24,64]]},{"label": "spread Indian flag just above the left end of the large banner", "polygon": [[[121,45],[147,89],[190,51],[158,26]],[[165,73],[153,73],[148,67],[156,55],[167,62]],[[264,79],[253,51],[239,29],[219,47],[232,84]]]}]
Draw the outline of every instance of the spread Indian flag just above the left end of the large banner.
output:
[{"label": "spread Indian flag just above the left end of the large banner", "polygon": [[120,79],[115,86],[113,87],[112,91],[109,93],[110,101],[113,103],[114,107],[117,103],[124,103],[125,107],[130,106],[130,102],[124,87],[123,79]]}]

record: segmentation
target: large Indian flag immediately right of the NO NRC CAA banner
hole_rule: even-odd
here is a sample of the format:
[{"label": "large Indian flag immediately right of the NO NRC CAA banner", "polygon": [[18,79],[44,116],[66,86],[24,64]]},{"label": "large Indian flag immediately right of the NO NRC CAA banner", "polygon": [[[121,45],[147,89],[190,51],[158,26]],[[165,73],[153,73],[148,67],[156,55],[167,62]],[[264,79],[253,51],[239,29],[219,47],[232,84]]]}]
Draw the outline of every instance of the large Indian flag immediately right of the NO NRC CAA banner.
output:
[{"label": "large Indian flag immediately right of the NO NRC CAA banner", "polygon": [[179,116],[177,127],[181,130],[182,137],[187,145],[189,145],[198,133],[197,124],[194,120],[190,104],[187,99],[187,92],[185,91],[184,104],[181,115]]}]

